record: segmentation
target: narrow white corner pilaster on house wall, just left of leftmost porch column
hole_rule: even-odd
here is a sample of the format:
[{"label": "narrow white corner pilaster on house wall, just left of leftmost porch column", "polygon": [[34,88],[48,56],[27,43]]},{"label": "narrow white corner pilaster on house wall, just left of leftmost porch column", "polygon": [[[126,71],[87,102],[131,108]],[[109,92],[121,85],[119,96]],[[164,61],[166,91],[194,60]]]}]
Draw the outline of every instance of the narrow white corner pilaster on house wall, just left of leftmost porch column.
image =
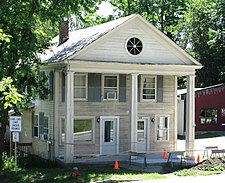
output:
[{"label": "narrow white corner pilaster on house wall, just left of leftmost porch column", "polygon": [[60,72],[59,71],[55,71],[55,75],[54,75],[54,157],[59,155],[59,128],[61,128],[61,126],[59,126],[59,92],[60,88],[59,88],[59,81],[60,81]]}]

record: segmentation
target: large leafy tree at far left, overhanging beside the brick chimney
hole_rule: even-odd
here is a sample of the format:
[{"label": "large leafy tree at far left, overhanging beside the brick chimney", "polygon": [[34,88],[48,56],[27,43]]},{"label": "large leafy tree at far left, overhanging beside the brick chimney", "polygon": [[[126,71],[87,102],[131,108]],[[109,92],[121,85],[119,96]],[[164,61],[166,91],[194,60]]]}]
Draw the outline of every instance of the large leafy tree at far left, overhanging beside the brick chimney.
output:
[{"label": "large leafy tree at far left, overhanging beside the brick chimney", "polygon": [[[99,0],[100,1],[100,0]],[[12,85],[23,94],[18,107],[26,107],[39,91],[47,91],[39,79],[41,62],[39,56],[50,45],[59,25],[76,15],[85,21],[88,13],[97,9],[95,0],[1,0],[0,1],[0,80],[12,78]],[[90,16],[89,16],[90,17]],[[4,33],[3,33],[4,32]],[[7,36],[6,36],[7,35]],[[10,40],[10,41],[9,41]],[[4,97],[0,93],[0,98]],[[8,111],[0,105],[0,121],[6,126]],[[3,138],[0,138],[2,144]],[[0,146],[0,154],[2,152]]]}]

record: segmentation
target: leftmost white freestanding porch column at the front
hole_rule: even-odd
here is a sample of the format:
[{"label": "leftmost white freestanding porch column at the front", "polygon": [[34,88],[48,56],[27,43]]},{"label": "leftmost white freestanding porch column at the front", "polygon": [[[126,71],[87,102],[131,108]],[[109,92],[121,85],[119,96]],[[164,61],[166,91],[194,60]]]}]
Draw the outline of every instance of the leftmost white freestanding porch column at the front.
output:
[{"label": "leftmost white freestanding porch column at the front", "polygon": [[65,163],[73,163],[73,116],[74,116],[74,73],[66,75],[66,116],[65,116]]}]

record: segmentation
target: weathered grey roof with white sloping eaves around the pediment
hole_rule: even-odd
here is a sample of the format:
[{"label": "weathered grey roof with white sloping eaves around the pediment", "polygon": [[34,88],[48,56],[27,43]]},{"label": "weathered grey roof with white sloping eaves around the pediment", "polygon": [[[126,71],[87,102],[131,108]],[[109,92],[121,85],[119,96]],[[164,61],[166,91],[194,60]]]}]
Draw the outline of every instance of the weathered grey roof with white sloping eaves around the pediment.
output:
[{"label": "weathered grey roof with white sloping eaves around the pediment", "polygon": [[[173,50],[176,50],[177,53],[183,55],[188,61],[189,64],[197,66],[196,68],[201,68],[202,65],[197,62],[193,57],[187,54],[182,50],[178,45],[176,45],[172,40],[170,40],[165,34],[160,32],[155,28],[151,23],[138,14],[133,14],[127,17],[119,18],[101,25],[76,30],[69,33],[69,39],[64,44],[58,45],[59,38],[58,36],[52,40],[52,43],[55,43],[55,46],[52,46],[45,55],[41,57],[42,61],[48,61],[49,63],[56,63],[64,61],[65,59],[70,59],[74,55],[77,55],[78,52],[81,53],[84,50],[87,50],[89,45],[97,44],[100,41],[100,38],[109,36],[113,32],[122,27],[122,25],[128,25],[132,20],[141,21],[146,25],[146,27],[153,31],[161,40],[164,40],[166,44],[169,44],[173,47]],[[138,62],[141,64],[141,62]],[[147,63],[152,64],[152,63]]]}]

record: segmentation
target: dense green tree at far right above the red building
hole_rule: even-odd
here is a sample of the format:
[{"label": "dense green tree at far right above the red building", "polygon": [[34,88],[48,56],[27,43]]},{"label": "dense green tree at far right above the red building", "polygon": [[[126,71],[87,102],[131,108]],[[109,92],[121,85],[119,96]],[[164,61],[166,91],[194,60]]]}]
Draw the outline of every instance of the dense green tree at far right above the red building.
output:
[{"label": "dense green tree at far right above the red building", "polygon": [[225,82],[225,2],[193,0],[186,13],[184,39],[191,54],[204,66],[197,73],[197,86]]}]

